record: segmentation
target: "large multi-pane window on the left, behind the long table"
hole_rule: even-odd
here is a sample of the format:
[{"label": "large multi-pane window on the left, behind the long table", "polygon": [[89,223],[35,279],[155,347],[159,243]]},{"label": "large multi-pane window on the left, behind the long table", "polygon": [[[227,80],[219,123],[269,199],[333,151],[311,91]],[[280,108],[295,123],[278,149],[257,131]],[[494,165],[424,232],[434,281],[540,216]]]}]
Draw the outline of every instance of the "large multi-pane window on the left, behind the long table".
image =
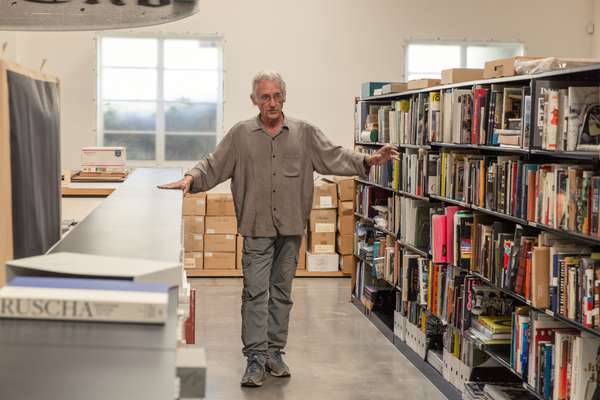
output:
[{"label": "large multi-pane window on the left, behind the long table", "polygon": [[125,146],[133,165],[182,164],[222,134],[218,39],[102,36],[98,143]]}]

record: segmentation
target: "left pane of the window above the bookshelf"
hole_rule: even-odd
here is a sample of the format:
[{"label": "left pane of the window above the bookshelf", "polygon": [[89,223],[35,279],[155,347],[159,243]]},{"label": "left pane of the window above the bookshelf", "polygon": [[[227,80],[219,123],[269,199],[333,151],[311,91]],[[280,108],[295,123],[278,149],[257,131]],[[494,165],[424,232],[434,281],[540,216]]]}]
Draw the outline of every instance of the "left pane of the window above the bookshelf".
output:
[{"label": "left pane of the window above the bookshelf", "polygon": [[438,74],[443,69],[460,67],[460,46],[411,44],[408,46],[408,72]]}]

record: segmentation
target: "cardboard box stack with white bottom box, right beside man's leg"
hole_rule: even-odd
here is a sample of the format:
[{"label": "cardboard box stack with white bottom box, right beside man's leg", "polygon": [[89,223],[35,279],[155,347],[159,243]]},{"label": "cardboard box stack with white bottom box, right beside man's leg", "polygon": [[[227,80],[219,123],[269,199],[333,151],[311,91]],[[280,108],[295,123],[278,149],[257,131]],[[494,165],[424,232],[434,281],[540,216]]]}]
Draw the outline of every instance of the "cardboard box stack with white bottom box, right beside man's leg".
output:
[{"label": "cardboard box stack with white bottom box, right beside man's leg", "polygon": [[310,272],[337,271],[339,255],[335,252],[337,223],[337,186],[335,183],[315,183],[313,207],[310,213],[306,269]]}]

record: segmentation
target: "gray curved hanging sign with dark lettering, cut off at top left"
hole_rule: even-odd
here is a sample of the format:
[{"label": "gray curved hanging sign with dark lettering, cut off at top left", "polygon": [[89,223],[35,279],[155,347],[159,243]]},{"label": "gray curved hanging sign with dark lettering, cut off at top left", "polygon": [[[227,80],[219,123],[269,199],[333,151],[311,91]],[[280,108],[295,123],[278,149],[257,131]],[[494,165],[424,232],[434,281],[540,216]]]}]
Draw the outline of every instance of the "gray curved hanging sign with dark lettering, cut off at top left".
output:
[{"label": "gray curved hanging sign with dark lettering, cut off at top left", "polygon": [[0,0],[0,30],[132,28],[175,21],[197,10],[198,0]]}]

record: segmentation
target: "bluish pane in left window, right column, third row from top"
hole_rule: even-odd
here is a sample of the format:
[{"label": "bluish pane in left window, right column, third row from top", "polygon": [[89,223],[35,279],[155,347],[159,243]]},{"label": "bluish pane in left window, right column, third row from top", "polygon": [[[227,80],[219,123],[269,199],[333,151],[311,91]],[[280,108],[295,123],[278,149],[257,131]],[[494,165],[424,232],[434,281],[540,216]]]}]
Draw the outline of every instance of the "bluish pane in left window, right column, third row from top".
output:
[{"label": "bluish pane in left window, right column, third row from top", "polygon": [[216,132],[216,103],[165,104],[167,132]]}]

